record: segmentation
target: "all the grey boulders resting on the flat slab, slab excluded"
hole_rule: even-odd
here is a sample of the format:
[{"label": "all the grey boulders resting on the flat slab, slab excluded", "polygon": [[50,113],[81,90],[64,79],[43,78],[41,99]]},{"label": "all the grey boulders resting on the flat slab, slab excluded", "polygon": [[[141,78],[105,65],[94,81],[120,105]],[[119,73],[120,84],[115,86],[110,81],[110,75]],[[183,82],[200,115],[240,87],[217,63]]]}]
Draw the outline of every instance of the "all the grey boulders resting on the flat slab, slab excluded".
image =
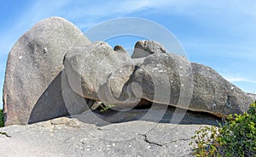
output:
[{"label": "all the grey boulders resting on the flat slab, slab excluded", "polygon": [[101,102],[118,110],[166,104],[225,117],[245,111],[253,98],[158,42],[137,42],[130,57],[122,46],[90,43],[61,18],[40,21],[15,43],[3,88],[6,126],[78,115]]}]

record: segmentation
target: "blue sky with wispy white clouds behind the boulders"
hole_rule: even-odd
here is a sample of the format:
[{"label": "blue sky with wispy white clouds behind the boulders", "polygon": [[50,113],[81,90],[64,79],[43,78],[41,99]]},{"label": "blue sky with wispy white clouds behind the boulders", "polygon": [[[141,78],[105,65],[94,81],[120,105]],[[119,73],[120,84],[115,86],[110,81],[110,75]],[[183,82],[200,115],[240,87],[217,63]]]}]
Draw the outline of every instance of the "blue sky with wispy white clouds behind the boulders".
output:
[{"label": "blue sky with wispy white clouds behind the boulders", "polygon": [[[0,1],[1,88],[10,49],[39,20],[61,16],[85,32],[105,20],[137,17],[171,31],[190,61],[206,64],[246,92],[256,93],[256,1]],[[131,47],[136,39],[109,42]]]}]

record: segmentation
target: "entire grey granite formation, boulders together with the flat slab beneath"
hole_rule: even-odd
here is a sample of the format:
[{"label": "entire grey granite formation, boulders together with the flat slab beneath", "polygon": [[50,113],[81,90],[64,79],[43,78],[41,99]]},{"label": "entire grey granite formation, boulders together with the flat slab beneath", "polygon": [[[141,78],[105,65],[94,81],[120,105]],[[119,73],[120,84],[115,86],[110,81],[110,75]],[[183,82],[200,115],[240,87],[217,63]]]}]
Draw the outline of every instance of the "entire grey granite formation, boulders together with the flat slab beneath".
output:
[{"label": "entire grey granite formation, boulders together with the flat slab beneath", "polygon": [[192,156],[195,130],[254,96],[158,42],[137,42],[130,57],[49,18],[9,53],[0,156]]}]

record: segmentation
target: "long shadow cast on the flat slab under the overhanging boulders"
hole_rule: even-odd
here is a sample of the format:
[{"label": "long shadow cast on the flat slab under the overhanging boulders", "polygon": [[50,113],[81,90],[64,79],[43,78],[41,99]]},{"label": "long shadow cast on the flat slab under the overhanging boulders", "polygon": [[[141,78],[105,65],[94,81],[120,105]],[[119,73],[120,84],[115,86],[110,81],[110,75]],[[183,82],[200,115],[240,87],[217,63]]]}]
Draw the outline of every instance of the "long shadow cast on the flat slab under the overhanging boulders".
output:
[{"label": "long shadow cast on the flat slab under the overhanging boulders", "polygon": [[[172,122],[175,114],[185,115],[177,123]],[[134,108],[125,111],[108,109],[101,112],[99,110],[86,110],[81,115],[72,115],[84,123],[96,124],[97,126],[107,126],[113,123],[127,121],[152,121],[157,123],[171,123],[181,125],[212,125],[218,126],[222,120],[217,116],[207,113],[198,113],[186,109],[177,109],[166,104],[154,104],[143,108]]]}]

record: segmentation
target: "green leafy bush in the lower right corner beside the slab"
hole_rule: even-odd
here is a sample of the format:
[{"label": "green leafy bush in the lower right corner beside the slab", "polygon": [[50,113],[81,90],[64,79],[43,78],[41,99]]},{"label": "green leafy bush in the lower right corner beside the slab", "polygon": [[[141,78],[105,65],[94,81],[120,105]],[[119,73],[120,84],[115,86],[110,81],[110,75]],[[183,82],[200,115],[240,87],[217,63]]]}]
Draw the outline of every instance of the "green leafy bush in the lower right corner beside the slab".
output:
[{"label": "green leafy bush in the lower right corner beside the slab", "polygon": [[219,127],[205,126],[195,131],[196,156],[256,156],[256,102],[242,115],[229,115]]}]

